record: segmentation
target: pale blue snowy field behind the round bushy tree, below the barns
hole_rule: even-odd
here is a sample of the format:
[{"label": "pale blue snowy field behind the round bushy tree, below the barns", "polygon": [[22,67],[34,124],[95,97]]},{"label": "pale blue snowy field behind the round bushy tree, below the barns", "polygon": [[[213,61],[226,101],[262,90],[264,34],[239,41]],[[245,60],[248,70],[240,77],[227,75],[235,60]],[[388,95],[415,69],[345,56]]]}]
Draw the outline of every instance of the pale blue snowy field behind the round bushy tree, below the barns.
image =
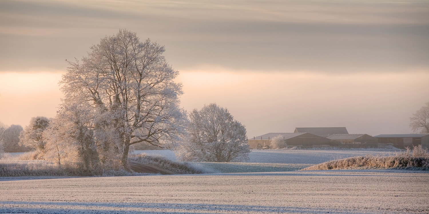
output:
[{"label": "pale blue snowy field behind the round bushy tree, below the barns", "polygon": [[[170,150],[137,150],[136,154],[146,153],[161,155],[176,161],[174,152]],[[395,152],[375,150],[252,150],[249,163],[302,163],[319,164],[329,160],[337,160],[365,155],[395,155]]]}]

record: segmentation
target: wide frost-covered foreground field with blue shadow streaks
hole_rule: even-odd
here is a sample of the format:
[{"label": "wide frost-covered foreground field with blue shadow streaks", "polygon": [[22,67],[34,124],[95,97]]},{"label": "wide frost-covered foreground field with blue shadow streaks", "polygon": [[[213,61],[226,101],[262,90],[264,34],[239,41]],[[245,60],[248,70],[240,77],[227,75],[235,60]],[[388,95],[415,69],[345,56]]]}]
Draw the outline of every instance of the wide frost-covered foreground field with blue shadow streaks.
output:
[{"label": "wide frost-covered foreground field with blue shadow streaks", "polygon": [[0,181],[0,213],[421,214],[428,182],[402,170]]}]

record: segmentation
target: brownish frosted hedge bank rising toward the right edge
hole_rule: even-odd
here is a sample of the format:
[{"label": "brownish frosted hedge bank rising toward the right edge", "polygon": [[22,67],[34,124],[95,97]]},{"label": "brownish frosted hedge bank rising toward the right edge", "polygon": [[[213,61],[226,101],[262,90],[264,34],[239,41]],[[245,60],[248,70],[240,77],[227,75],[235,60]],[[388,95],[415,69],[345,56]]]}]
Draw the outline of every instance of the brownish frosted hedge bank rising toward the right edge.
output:
[{"label": "brownish frosted hedge bank rising toward the right edge", "polygon": [[413,169],[429,170],[429,153],[421,145],[414,146],[412,152],[396,153],[395,156],[366,155],[341,160],[332,160],[310,166],[302,170],[328,170],[328,169]]}]

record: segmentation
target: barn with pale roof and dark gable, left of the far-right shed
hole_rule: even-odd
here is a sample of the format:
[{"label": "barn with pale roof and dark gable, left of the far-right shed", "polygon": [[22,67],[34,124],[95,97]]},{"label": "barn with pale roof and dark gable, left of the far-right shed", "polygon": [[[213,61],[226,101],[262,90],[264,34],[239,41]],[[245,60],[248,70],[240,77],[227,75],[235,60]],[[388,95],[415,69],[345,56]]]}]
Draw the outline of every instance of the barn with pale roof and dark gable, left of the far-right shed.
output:
[{"label": "barn with pale roof and dark gable, left of the far-right shed", "polygon": [[378,138],[368,134],[332,134],[326,137],[350,147],[378,147]]}]

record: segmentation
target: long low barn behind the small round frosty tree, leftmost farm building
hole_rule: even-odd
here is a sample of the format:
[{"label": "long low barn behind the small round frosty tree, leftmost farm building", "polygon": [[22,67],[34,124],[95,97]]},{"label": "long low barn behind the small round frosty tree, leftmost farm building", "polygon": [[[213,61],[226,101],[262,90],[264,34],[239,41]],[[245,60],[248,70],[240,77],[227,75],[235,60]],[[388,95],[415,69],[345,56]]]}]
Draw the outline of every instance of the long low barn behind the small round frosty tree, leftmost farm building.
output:
[{"label": "long low barn behind the small round frosty tree, leftmost farm building", "polygon": [[270,146],[273,137],[281,135],[287,146],[329,146],[331,140],[310,133],[268,133],[248,140],[250,149]]}]

